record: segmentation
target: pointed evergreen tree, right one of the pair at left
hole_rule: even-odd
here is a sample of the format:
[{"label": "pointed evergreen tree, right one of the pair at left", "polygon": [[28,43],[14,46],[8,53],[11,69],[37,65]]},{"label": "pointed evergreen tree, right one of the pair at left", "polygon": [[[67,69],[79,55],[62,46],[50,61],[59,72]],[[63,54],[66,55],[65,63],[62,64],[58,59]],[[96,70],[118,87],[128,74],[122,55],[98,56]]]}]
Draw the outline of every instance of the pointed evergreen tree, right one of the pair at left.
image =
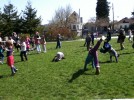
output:
[{"label": "pointed evergreen tree, right one of the pair at left", "polygon": [[25,33],[35,33],[36,28],[41,23],[41,18],[37,18],[37,10],[35,8],[32,8],[32,5],[30,2],[28,2],[28,5],[26,6],[25,11],[23,11],[23,26],[24,26],[24,32]]}]

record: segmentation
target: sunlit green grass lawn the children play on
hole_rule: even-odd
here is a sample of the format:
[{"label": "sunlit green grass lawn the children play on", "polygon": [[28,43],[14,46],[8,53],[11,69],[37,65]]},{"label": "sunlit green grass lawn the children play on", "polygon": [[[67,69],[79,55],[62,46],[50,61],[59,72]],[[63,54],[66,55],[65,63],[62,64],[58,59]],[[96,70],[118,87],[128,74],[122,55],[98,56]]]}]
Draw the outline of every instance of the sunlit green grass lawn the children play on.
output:
[{"label": "sunlit green grass lawn the children play on", "polygon": [[[109,54],[99,52],[100,75],[95,75],[90,64],[88,71],[81,70],[88,53],[83,44],[84,41],[62,42],[62,48],[55,49],[56,43],[47,43],[47,53],[33,51],[25,62],[20,62],[19,53],[15,52],[18,68],[15,76],[10,76],[6,63],[0,65],[0,75],[3,76],[0,78],[0,100],[134,98],[132,44],[126,39],[126,49],[121,51],[116,40],[111,41],[120,54],[118,63],[109,63]],[[57,51],[64,52],[66,59],[51,62]]]}]

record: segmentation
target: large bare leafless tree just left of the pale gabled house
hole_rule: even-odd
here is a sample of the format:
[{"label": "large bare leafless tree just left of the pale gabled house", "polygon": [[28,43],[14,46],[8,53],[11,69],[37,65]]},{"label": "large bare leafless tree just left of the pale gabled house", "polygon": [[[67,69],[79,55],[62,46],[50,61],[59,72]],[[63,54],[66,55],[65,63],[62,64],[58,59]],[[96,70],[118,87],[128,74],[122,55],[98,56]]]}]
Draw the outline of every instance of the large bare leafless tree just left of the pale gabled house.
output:
[{"label": "large bare leafless tree just left of the pale gabled house", "polygon": [[55,11],[54,17],[49,21],[49,25],[51,26],[51,29],[55,30],[55,34],[68,34],[70,27],[69,16],[71,13],[72,8],[70,5],[67,5],[66,8],[59,7]]}]

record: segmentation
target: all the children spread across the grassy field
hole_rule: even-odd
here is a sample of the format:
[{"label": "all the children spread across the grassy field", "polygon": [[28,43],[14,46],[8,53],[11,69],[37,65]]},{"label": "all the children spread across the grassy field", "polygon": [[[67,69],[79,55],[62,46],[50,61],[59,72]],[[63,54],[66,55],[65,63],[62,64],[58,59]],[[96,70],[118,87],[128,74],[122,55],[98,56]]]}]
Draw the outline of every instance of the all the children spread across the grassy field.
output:
[{"label": "all the children spread across the grassy field", "polygon": [[[129,30],[129,41],[133,42],[132,47],[134,48],[134,37],[132,39],[132,34],[134,35],[134,30]],[[98,59],[98,48],[100,46],[100,44],[102,43],[102,41],[104,41],[103,47],[100,49],[101,53],[106,53],[108,52],[110,54],[110,61],[112,62],[112,56],[115,57],[116,62],[118,62],[118,57],[119,54],[117,53],[117,51],[110,45],[110,40],[111,40],[111,32],[110,29],[108,29],[107,32],[107,36],[102,36],[102,38],[100,38],[100,40],[98,40],[98,42],[96,43],[96,45],[94,46],[94,36],[91,35],[87,35],[86,37],[86,41],[84,46],[87,46],[87,50],[88,50],[88,55],[86,57],[85,60],[85,64],[84,64],[84,71],[87,70],[87,65],[92,62],[92,65],[94,68],[96,68],[96,74],[100,73],[100,66],[99,66],[99,59]],[[123,50],[125,47],[123,45],[124,41],[125,41],[125,32],[123,29],[121,29],[119,31],[119,35],[118,35],[118,39],[117,39],[117,43],[120,43],[120,47],[121,50]],[[56,49],[57,48],[61,48],[61,36],[60,34],[57,35],[57,45],[56,45]],[[91,45],[92,43],[92,45]],[[42,46],[42,47],[41,47]],[[92,47],[94,46],[94,47]],[[42,35],[40,36],[40,34],[38,32],[35,33],[35,36],[33,37],[29,37],[29,36],[22,36],[19,37],[15,32],[13,33],[13,36],[9,37],[7,40],[3,41],[2,39],[0,39],[0,63],[3,64],[4,62],[4,51],[6,52],[6,57],[7,57],[7,64],[8,66],[11,68],[11,75],[14,75],[18,69],[16,69],[16,67],[14,66],[14,56],[13,56],[13,52],[14,49],[16,48],[17,51],[20,51],[20,59],[21,61],[24,60],[28,60],[28,54],[30,52],[30,50],[36,50],[37,53],[41,53],[44,52],[46,53],[46,40],[45,40],[45,36]],[[60,61],[61,59],[64,59],[64,53],[63,52],[57,52],[56,56],[54,56],[52,61]]]}]

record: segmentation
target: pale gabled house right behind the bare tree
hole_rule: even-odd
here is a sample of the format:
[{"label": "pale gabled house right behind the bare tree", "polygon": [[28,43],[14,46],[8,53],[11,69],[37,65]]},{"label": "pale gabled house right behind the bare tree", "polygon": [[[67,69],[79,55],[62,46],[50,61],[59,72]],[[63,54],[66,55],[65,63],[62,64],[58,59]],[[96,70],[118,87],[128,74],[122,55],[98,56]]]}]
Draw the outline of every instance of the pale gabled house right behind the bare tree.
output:
[{"label": "pale gabled house right behind the bare tree", "polygon": [[81,36],[82,35],[83,21],[82,21],[82,17],[80,17],[80,10],[79,10],[79,14],[74,11],[69,16],[69,20],[71,23],[71,25],[70,25],[71,31],[76,32],[77,36]]}]

